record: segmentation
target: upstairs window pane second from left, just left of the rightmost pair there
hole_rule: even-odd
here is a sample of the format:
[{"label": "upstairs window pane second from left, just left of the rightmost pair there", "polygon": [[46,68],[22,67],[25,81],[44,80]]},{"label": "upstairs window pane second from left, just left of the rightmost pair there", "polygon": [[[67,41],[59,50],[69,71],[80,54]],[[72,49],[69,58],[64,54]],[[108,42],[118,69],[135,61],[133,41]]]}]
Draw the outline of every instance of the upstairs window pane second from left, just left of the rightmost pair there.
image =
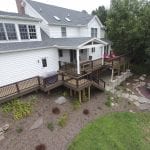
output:
[{"label": "upstairs window pane second from left, just left of the rightmost pair there", "polygon": [[5,23],[8,40],[17,40],[17,34],[14,24]]}]

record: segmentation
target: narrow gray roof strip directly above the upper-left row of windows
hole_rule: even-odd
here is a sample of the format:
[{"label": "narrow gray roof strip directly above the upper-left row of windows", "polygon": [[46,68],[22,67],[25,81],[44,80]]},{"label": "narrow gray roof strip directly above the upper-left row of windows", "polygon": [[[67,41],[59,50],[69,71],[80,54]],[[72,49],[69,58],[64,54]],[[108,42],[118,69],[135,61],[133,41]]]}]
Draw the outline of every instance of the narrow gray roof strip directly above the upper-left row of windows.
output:
[{"label": "narrow gray roof strip directly above the upper-left row of windows", "polygon": [[20,19],[31,19],[31,20],[39,20],[37,18],[30,17],[28,15],[21,15],[19,13],[14,13],[14,12],[5,12],[5,11],[0,11],[0,16],[6,16],[6,17],[19,17]]}]

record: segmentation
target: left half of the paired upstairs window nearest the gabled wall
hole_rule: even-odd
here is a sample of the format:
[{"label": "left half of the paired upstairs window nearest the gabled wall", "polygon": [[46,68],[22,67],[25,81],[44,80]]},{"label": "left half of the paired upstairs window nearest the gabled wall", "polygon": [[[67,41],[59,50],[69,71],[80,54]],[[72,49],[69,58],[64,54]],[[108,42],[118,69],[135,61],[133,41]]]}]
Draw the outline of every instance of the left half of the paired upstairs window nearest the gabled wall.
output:
[{"label": "left half of the paired upstairs window nearest the gabled wall", "polygon": [[29,39],[27,25],[19,24],[19,31],[22,40]]}]

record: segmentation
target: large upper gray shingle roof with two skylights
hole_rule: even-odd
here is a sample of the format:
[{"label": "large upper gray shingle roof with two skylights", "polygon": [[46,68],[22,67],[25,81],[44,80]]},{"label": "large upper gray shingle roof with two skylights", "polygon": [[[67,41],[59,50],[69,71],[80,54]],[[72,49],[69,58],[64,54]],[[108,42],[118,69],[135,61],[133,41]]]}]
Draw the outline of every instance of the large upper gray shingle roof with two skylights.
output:
[{"label": "large upper gray shingle roof with two skylights", "polygon": [[[93,18],[85,12],[75,11],[71,9],[61,8],[53,5],[48,5],[36,1],[27,0],[27,2],[49,23],[56,25],[67,26],[85,26]],[[54,16],[60,18],[60,21],[56,20]],[[71,21],[65,20],[68,17]]]}]

